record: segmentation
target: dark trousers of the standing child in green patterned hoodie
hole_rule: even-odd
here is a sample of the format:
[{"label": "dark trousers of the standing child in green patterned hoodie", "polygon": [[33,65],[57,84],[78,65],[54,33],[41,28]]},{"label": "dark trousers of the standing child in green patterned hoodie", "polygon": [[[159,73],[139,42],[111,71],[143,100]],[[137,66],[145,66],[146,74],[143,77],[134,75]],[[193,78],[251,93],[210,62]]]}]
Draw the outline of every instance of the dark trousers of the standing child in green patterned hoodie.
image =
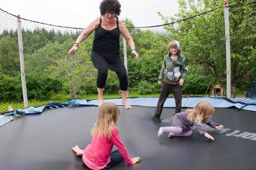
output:
[{"label": "dark trousers of the standing child in green patterned hoodie", "polygon": [[155,117],[161,117],[164,102],[171,93],[175,99],[175,114],[181,111],[182,87],[179,84],[171,85],[163,81],[162,91],[156,106]]}]

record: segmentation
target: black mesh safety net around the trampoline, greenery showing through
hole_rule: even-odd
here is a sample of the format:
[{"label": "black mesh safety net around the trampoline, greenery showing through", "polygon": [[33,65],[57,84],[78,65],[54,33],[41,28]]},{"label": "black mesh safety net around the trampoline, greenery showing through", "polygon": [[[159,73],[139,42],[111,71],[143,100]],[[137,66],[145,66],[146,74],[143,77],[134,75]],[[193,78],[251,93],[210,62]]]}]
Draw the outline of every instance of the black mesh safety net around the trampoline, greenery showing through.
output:
[{"label": "black mesh safety net around the trampoline, greenery showing through", "polygon": [[[180,6],[175,17],[160,13],[166,23],[163,25],[134,27],[131,21],[124,21],[140,54],[135,60],[120,38],[121,53],[127,56],[128,97],[159,97],[157,80],[163,57],[168,43],[177,39],[189,68],[182,96],[252,102],[256,82],[255,1],[226,7],[218,1],[209,2]],[[70,57],[67,52],[83,29],[34,22],[1,9],[0,22],[0,113],[49,101],[97,99],[97,70],[90,60],[93,34]],[[119,90],[116,74],[109,71],[104,98],[120,98]]]}]

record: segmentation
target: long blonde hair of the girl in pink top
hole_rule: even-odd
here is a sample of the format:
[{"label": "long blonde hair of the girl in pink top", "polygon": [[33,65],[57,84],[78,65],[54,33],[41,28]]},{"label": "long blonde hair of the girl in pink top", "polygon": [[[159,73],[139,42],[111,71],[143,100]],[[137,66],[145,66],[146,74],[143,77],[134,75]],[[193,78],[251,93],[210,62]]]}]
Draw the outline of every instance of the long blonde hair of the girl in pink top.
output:
[{"label": "long blonde hair of the girl in pink top", "polygon": [[92,136],[104,136],[110,139],[111,129],[118,130],[116,122],[119,116],[120,110],[115,103],[103,103],[100,106],[99,117],[92,128]]}]

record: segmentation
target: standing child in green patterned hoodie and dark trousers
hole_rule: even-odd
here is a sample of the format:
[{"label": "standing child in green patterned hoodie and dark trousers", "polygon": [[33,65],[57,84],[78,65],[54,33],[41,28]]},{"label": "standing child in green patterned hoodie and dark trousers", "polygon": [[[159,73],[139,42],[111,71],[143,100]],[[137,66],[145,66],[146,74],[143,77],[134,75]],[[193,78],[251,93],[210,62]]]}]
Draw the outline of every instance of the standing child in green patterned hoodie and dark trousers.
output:
[{"label": "standing child in green patterned hoodie and dark trousers", "polygon": [[171,93],[175,99],[175,114],[181,111],[182,85],[187,72],[186,59],[180,55],[179,41],[170,41],[168,55],[164,57],[163,66],[159,74],[158,83],[162,86],[162,90],[153,117],[155,122],[161,122],[160,117],[164,102]]}]

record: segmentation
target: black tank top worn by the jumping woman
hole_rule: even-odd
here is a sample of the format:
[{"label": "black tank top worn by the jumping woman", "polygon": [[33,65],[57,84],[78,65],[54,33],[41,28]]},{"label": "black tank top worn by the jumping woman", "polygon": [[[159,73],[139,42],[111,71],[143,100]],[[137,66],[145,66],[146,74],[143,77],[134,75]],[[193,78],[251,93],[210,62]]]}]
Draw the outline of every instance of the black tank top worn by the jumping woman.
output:
[{"label": "black tank top worn by the jumping woman", "polygon": [[92,51],[99,53],[107,60],[115,60],[120,55],[120,30],[118,27],[118,19],[116,20],[117,27],[115,29],[106,30],[100,24],[95,29]]}]

